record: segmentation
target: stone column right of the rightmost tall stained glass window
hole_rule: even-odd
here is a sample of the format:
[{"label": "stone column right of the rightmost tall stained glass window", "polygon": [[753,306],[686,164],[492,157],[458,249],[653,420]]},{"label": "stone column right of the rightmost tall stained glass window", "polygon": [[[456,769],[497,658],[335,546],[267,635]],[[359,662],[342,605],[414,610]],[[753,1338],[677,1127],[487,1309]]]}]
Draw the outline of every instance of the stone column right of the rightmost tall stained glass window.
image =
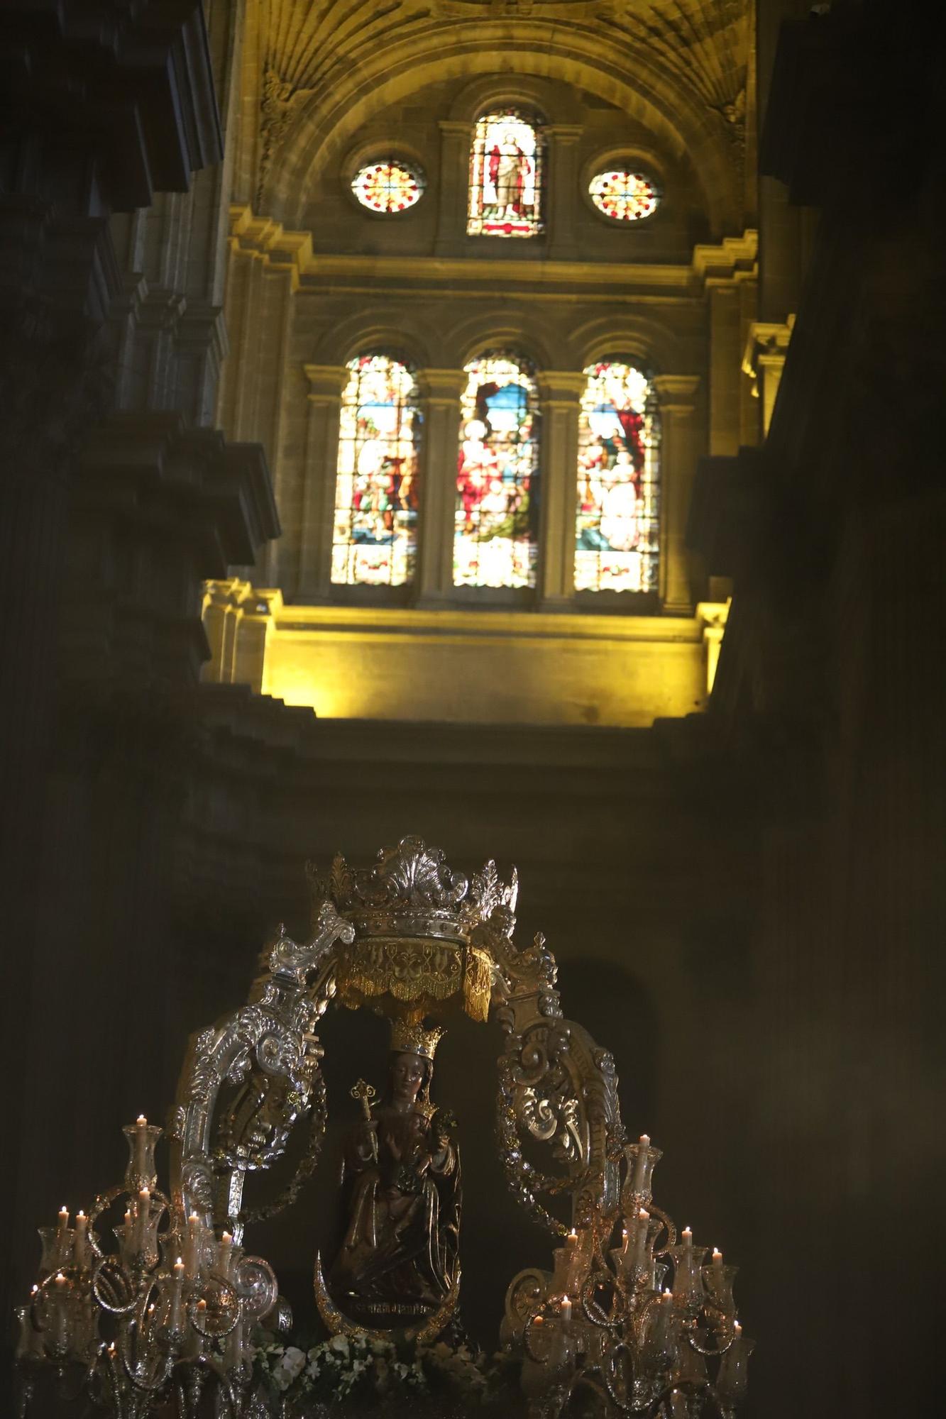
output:
[{"label": "stone column right of the rightmost tall stained glass window", "polygon": [[662,430],[660,602],[672,616],[692,616],[696,600],[693,568],[686,551],[686,518],[696,460],[703,453],[696,419],[699,387],[699,375],[658,375],[653,380]]}]

